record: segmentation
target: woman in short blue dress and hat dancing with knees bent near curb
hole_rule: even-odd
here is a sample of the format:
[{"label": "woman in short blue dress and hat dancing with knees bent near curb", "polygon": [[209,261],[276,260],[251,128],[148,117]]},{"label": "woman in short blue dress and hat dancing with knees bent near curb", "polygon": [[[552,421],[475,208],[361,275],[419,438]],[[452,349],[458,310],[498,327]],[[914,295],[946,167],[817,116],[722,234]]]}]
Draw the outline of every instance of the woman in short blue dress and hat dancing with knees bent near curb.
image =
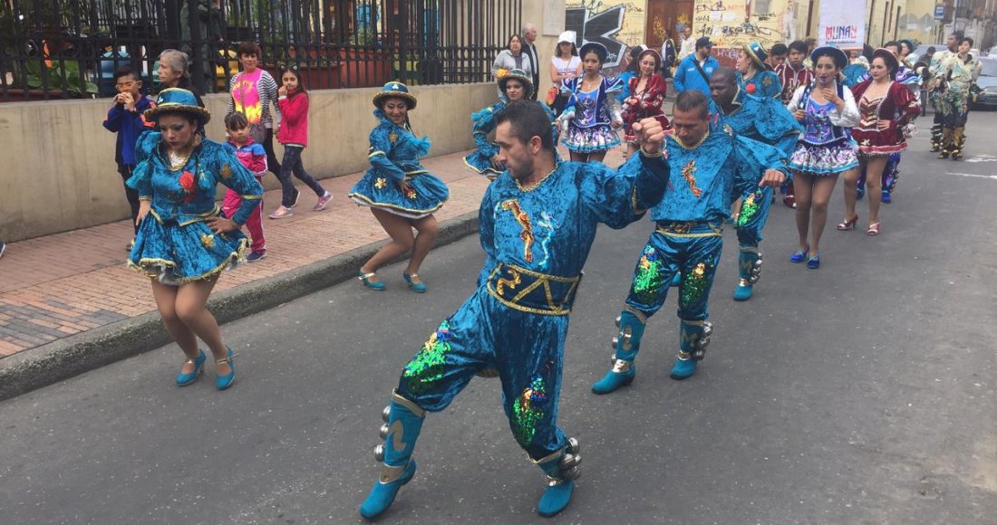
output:
[{"label": "woman in short blue dress and hat dancing with knees bent near curb", "polygon": [[[375,272],[403,253],[412,250],[412,258],[402,274],[409,288],[426,292],[419,277],[419,267],[436,242],[439,226],[433,212],[450,196],[447,184],[419,163],[430,152],[429,137],[419,138],[412,131],[409,112],[416,109],[416,98],[400,82],[389,82],[374,96],[374,117],[380,121],[370,134],[371,168],[354,184],[349,197],[370,206],[374,217],[391,236],[368,259],[357,279],[371,290],[384,290]],[[413,236],[412,229],[419,234]]]}]

